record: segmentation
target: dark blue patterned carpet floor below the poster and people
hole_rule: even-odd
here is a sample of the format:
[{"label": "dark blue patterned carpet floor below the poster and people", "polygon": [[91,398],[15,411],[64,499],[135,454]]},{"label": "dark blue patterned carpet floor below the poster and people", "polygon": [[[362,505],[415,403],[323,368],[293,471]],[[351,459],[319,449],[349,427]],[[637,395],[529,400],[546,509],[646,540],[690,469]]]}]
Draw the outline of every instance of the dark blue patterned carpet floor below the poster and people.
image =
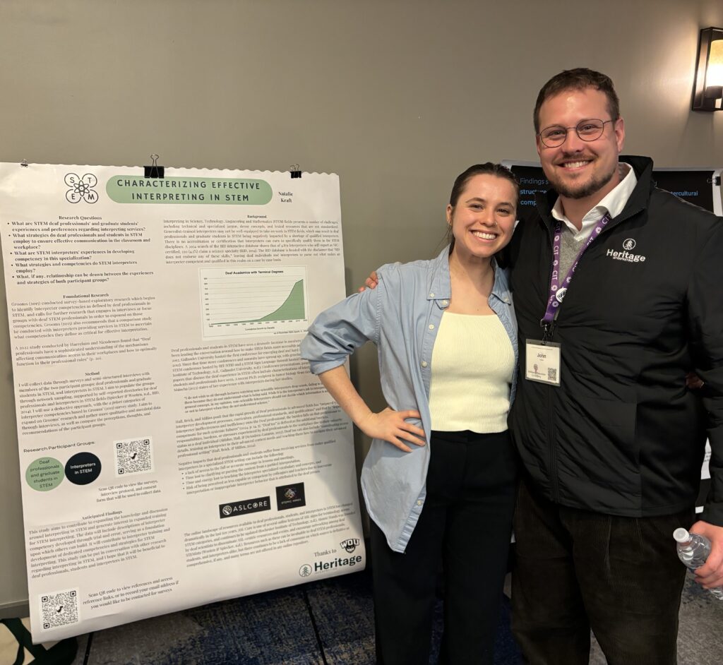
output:
[{"label": "dark blue patterned carpet floor below the poster and people", "polygon": [[[370,574],[362,571],[82,635],[73,665],[372,665],[370,587]],[[496,665],[520,663],[509,612],[505,597]],[[438,604],[430,663],[437,661],[441,625]],[[689,578],[680,610],[679,665],[722,663],[722,627],[723,602]],[[13,662],[14,651],[0,647],[0,665]],[[593,645],[590,665],[604,664]]]}]

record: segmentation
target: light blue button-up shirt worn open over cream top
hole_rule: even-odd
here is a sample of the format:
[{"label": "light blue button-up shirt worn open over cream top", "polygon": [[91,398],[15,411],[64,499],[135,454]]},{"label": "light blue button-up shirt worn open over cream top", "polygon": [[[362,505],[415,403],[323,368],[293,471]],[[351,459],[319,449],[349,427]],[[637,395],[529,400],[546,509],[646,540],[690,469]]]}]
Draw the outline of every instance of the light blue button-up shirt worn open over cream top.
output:
[{"label": "light blue button-up shirt worn open over cream top", "polygon": [[[372,439],[361,469],[361,491],[369,516],[394,552],[404,552],[427,496],[429,466],[429,381],[432,348],[445,309],[450,304],[449,247],[431,261],[392,263],[377,270],[375,289],[354,293],[319,314],[301,342],[301,357],[314,374],[338,367],[371,340],[377,345],[382,393],[395,411],[416,409],[427,445],[403,452],[389,442]],[[518,361],[517,323],[505,271],[493,262],[495,285],[489,306],[500,317]],[[469,350],[474,353],[474,349]],[[513,372],[510,403],[515,396]]]}]

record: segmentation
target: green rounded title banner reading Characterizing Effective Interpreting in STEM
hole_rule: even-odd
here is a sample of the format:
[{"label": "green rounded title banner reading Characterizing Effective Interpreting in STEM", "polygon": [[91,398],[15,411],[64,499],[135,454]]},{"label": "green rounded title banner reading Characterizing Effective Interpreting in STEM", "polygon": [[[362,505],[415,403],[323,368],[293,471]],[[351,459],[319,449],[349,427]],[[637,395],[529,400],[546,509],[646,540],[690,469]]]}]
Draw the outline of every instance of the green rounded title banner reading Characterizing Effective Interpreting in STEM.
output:
[{"label": "green rounded title banner reading Characterizing Effective Interpreting in STEM", "polygon": [[106,183],[106,192],[116,203],[266,205],[272,196],[265,180],[240,178],[113,176]]}]

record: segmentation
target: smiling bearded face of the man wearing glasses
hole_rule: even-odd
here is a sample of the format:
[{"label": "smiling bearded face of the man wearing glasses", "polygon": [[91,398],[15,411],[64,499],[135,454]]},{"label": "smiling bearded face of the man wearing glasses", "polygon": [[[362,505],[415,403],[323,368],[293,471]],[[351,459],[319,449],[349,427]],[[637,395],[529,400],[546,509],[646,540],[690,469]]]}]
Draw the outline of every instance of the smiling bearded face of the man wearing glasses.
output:
[{"label": "smiling bearded face of the man wearing glasses", "polygon": [[[539,108],[539,126],[575,127],[582,120],[612,120],[607,96],[588,87],[583,90],[563,90],[547,98]],[[622,118],[607,122],[602,136],[583,141],[570,129],[565,142],[547,147],[537,137],[537,154],[542,170],[555,188],[563,205],[565,198],[587,199],[594,207],[620,182],[617,155],[623,150],[625,124]]]}]

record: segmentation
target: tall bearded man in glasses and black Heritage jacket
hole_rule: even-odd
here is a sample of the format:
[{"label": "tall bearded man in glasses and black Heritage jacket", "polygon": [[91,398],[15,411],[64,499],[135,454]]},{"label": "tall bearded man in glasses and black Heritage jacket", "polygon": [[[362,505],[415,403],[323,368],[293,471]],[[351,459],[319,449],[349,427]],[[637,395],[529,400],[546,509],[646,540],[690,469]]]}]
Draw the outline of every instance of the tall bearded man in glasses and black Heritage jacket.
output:
[{"label": "tall bearded man in glasses and black Heritage jacket", "polygon": [[604,74],[557,74],[534,122],[555,191],[513,240],[513,632],[533,665],[587,664],[590,628],[611,665],[675,664],[672,532],[695,519],[706,431],[690,530],[713,543],[698,581],[723,584],[723,220],[656,189],[648,158],[618,161]]}]

